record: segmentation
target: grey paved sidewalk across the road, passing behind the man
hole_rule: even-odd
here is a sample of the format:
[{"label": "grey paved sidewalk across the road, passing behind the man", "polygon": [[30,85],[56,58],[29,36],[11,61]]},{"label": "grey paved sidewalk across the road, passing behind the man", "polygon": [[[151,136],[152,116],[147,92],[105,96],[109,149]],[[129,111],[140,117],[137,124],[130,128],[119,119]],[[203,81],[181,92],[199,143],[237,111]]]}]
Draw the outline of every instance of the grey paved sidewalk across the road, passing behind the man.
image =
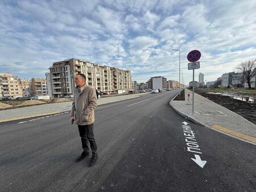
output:
[{"label": "grey paved sidewalk across the road, passing behind the man", "polygon": [[[116,97],[104,97],[98,99],[98,105],[104,105],[106,103],[113,103],[118,101],[123,101],[127,99],[138,98],[140,95],[148,93],[138,93],[130,95],[120,95]],[[36,116],[52,115],[59,112],[70,111],[72,106],[72,101],[60,102],[60,103],[49,103],[43,105],[13,108],[9,110],[0,111],[0,123],[9,122],[10,120],[34,118]]]}]

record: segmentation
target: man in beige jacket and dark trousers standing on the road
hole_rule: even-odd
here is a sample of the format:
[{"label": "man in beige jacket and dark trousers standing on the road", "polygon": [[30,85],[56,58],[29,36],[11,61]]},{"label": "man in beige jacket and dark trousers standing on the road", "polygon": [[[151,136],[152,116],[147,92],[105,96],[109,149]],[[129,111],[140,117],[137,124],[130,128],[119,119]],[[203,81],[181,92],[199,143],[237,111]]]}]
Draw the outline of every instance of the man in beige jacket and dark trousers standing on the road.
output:
[{"label": "man in beige jacket and dark trousers standing on the road", "polygon": [[[74,120],[79,128],[79,134],[82,141],[82,148],[84,151],[76,161],[79,162],[85,157],[89,156],[91,149],[92,158],[89,166],[93,166],[98,158],[97,145],[93,133],[94,123],[94,108],[97,107],[97,96],[95,90],[86,85],[86,77],[84,74],[79,73],[75,76],[76,88],[74,90],[73,103],[71,108],[71,122]],[[90,143],[90,149],[88,145]]]}]

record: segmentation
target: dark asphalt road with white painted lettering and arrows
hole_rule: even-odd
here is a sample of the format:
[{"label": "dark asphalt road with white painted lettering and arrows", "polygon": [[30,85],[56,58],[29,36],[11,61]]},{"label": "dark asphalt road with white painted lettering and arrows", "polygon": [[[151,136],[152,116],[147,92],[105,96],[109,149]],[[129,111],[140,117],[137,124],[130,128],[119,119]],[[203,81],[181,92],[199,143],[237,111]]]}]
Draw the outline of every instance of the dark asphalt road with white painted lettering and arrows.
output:
[{"label": "dark asphalt road with white painted lettering and arrows", "polygon": [[1,123],[0,191],[255,191],[255,145],[188,122],[177,93],[98,106],[92,168],[69,113]]}]

